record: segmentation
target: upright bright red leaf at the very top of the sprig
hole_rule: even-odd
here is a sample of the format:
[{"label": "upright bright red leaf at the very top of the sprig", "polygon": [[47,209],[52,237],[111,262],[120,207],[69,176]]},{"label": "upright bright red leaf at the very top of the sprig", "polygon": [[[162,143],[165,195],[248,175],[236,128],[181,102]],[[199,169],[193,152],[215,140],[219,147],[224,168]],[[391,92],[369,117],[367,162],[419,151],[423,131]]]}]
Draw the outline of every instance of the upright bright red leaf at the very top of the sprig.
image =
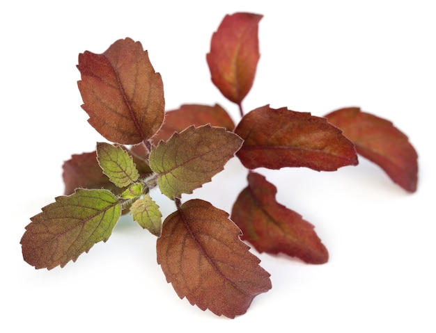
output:
[{"label": "upright bright red leaf at the very top of the sprig", "polygon": [[212,35],[207,54],[212,82],[221,94],[236,104],[253,85],[260,58],[258,23],[262,15],[235,13],[226,15]]}]

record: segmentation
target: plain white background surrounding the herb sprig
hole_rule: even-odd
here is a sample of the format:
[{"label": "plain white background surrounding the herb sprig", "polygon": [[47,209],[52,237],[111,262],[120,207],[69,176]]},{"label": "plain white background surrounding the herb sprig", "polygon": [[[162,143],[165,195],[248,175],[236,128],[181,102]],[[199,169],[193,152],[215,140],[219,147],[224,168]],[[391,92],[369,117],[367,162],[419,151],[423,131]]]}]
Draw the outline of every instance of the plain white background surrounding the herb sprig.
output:
[{"label": "plain white background surrounding the herb sprig", "polygon": [[[433,3],[3,1],[0,331],[436,332]],[[25,263],[24,227],[63,193],[63,161],[104,140],[80,108],[78,54],[139,40],[162,74],[167,109],[219,103],[237,121],[205,54],[224,15],[238,11],[264,15],[245,111],[271,104],[325,115],[359,106],[392,120],[419,153],[418,191],[406,193],[364,159],[338,172],[258,170],[281,204],[316,226],[330,259],[310,266],[261,254],[272,290],[234,320],[180,300],[156,263],[155,237],[128,218],[65,268]],[[233,159],[189,197],[230,211],[245,176]],[[173,211],[155,199],[164,215]]]}]

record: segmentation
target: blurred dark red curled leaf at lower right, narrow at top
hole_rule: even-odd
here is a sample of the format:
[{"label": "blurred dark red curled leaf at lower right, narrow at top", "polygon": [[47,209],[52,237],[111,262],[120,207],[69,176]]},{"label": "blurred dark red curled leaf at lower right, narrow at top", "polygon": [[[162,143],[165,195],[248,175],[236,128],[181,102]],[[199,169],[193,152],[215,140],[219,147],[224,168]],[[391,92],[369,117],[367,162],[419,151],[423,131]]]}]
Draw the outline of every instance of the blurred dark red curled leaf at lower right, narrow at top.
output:
[{"label": "blurred dark red curled leaf at lower right, narrow at top", "polygon": [[242,239],[258,252],[283,253],[306,263],[325,263],[329,254],[313,225],[295,211],[279,204],[277,188],[256,172],[248,175],[233,205],[231,219],[242,230]]}]

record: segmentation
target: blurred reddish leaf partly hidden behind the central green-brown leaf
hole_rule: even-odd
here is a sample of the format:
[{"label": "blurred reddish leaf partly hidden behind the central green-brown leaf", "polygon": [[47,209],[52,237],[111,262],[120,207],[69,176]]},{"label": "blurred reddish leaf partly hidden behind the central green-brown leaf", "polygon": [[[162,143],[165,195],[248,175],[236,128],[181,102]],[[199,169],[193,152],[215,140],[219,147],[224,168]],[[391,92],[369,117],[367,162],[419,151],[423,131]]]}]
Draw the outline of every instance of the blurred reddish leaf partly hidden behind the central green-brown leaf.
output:
[{"label": "blurred reddish leaf partly hidden behind the central green-brown leaf", "polygon": [[230,115],[218,104],[215,106],[201,104],[185,104],[176,110],[166,111],[164,124],[153,136],[153,141],[168,140],[174,132],[181,132],[187,127],[194,125],[210,124],[214,127],[225,127],[228,131],[235,129],[235,123]]}]

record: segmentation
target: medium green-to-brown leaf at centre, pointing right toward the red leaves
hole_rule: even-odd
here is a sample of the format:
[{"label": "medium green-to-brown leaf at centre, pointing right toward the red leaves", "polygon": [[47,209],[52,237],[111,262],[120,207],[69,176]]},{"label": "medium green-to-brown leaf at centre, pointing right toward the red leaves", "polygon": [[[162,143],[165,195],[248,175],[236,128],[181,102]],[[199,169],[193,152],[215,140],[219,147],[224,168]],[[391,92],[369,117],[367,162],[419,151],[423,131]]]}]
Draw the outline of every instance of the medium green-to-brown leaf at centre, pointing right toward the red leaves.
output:
[{"label": "medium green-to-brown leaf at centre, pointing right toward the red leaves", "polygon": [[239,136],[222,127],[191,126],[152,149],[150,168],[159,174],[161,192],[173,199],[210,181],[241,145]]}]

